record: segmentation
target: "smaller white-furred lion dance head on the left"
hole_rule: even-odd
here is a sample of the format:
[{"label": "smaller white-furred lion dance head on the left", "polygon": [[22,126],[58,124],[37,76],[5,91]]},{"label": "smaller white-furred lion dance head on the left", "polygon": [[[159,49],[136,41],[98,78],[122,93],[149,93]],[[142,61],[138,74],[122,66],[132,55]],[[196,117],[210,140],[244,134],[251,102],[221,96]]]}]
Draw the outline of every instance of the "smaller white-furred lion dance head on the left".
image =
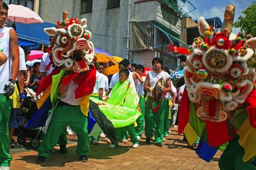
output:
[{"label": "smaller white-furred lion dance head on the left", "polygon": [[51,39],[47,48],[51,64],[74,72],[89,71],[94,59],[94,47],[90,40],[92,33],[85,28],[86,19],[67,18],[68,12],[63,12],[64,22],[57,21],[56,27],[44,28]]}]

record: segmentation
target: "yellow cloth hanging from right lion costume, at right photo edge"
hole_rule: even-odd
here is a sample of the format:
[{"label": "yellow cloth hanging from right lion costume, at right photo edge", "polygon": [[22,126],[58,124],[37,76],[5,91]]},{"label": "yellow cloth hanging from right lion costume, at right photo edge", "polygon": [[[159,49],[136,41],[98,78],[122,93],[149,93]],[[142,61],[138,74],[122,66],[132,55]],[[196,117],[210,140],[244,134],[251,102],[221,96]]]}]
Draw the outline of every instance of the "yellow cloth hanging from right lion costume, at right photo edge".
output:
[{"label": "yellow cloth hanging from right lion costume, at right photo edge", "polygon": [[241,128],[237,131],[240,136],[239,144],[244,148],[244,162],[247,162],[256,155],[256,129],[250,125],[248,117]]}]

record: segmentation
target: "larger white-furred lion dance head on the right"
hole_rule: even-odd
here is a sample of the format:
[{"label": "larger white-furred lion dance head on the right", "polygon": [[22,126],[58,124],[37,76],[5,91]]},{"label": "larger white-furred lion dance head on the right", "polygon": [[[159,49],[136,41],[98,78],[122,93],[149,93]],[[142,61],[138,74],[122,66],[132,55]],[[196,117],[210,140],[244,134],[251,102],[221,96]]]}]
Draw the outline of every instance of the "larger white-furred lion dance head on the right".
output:
[{"label": "larger white-furred lion dance head on the right", "polygon": [[256,38],[243,32],[230,37],[234,15],[230,8],[235,7],[227,6],[225,28],[220,33],[214,33],[214,28],[203,17],[199,18],[199,32],[204,39],[194,39],[184,68],[188,97],[201,104],[196,111],[198,117],[213,122],[226,120],[226,111],[243,104],[255,88]]}]

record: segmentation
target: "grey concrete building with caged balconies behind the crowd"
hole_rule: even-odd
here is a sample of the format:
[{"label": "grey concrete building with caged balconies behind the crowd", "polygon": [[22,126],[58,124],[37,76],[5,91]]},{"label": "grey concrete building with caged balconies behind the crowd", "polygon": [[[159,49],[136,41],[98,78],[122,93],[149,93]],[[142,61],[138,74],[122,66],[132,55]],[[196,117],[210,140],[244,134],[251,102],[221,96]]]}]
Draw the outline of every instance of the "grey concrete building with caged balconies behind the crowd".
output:
[{"label": "grey concrete building with caged balconies behind the crowd", "polygon": [[[4,1],[9,4],[21,2]],[[28,1],[34,3],[33,10],[38,11],[46,22],[62,21],[63,11],[68,11],[68,18],[86,18],[94,46],[111,55],[127,58],[131,63],[152,68],[152,59],[160,57],[164,66],[179,70],[179,55],[169,53],[167,46],[172,42],[176,46],[188,47],[181,40],[182,18],[187,18],[188,14],[178,6],[177,0]]]}]

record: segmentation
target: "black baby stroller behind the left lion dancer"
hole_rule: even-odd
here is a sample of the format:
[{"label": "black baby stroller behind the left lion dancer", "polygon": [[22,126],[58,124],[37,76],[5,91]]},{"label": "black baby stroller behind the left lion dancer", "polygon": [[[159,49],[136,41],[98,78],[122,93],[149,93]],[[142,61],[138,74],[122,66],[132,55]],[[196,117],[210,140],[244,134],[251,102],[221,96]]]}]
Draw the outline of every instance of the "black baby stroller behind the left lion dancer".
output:
[{"label": "black baby stroller behind the left lion dancer", "polygon": [[34,129],[25,129],[25,126],[30,119],[35,115],[37,111],[36,101],[32,101],[30,97],[24,99],[24,104],[20,109],[20,122],[18,127],[18,138],[19,144],[24,144],[26,140],[30,140],[30,145],[36,148],[40,145],[42,127]]}]

